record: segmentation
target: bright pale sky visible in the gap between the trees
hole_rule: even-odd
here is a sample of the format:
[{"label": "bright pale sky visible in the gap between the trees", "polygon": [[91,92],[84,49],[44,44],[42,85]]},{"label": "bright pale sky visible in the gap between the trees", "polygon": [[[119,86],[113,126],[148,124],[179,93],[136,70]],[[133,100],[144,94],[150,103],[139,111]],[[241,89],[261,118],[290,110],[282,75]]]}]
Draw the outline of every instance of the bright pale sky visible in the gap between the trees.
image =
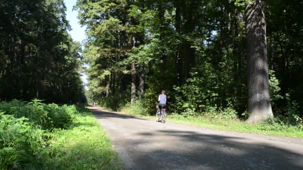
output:
[{"label": "bright pale sky visible in the gap between the trees", "polygon": [[[76,4],[77,0],[64,0],[64,3],[66,5],[67,11],[66,11],[66,17],[69,21],[69,24],[72,27],[72,30],[69,31],[69,34],[72,36],[74,41],[82,42],[85,39],[85,27],[81,27],[79,24],[79,20],[77,18],[78,11],[73,11],[73,6]],[[87,75],[81,76],[82,82],[84,85],[87,84]],[[87,86],[85,86],[86,89]]]}]

